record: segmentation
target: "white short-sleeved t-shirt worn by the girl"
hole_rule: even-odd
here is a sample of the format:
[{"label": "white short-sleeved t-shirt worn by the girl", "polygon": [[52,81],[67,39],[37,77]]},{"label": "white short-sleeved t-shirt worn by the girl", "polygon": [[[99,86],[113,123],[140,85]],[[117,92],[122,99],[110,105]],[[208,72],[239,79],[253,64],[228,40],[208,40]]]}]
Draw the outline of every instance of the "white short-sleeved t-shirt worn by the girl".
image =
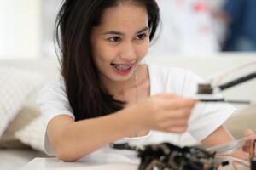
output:
[{"label": "white short-sleeved t-shirt worn by the girl", "polygon": [[[148,65],[148,73],[150,79],[150,95],[166,92],[191,97],[196,93],[198,82],[202,82],[202,79],[193,72],[179,68]],[[74,118],[73,110],[69,105],[67,94],[65,93],[65,85],[62,80],[51,82],[42,90],[38,98],[38,105],[46,123],[53,117],[61,114],[67,114]],[[235,108],[228,104],[199,103],[195,105],[189,117],[188,133],[196,140],[201,141],[220,127],[234,111]],[[170,142],[172,144],[179,144],[179,139],[180,135],[177,133],[163,133],[151,130],[144,137],[124,138],[114,143],[157,144]],[[47,135],[45,135],[44,147],[49,155],[54,155],[54,151],[50,148]],[[90,156],[84,157],[83,160],[96,163],[137,162],[134,152],[113,150],[108,146],[96,150]]]}]

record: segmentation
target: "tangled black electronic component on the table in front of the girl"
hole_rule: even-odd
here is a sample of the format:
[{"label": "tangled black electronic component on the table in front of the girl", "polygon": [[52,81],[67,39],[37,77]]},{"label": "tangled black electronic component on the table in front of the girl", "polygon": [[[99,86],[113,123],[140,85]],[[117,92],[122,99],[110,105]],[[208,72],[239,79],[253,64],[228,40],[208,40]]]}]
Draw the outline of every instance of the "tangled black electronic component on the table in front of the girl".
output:
[{"label": "tangled black electronic component on the table in front of the girl", "polygon": [[170,143],[148,144],[143,147],[125,144],[111,144],[119,150],[137,151],[141,158],[138,170],[217,170],[215,152],[197,147],[179,147]]}]

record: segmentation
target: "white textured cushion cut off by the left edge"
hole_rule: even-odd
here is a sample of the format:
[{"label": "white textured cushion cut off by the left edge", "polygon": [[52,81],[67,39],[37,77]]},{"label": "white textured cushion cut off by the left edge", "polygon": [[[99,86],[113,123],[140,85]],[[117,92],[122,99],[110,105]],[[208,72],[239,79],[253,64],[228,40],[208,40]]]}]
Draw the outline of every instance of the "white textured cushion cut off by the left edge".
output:
[{"label": "white textured cushion cut off by the left edge", "polygon": [[0,66],[0,137],[22,107],[26,97],[40,87],[36,73]]}]

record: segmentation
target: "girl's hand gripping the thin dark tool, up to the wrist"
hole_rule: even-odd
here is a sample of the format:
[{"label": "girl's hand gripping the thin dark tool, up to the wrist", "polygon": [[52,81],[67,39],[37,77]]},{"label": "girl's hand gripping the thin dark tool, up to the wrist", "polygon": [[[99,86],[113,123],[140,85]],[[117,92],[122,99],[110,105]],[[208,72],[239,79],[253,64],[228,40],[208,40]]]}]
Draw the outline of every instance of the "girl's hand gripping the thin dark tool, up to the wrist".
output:
[{"label": "girl's hand gripping the thin dark tool, up to the wrist", "polygon": [[137,104],[137,122],[141,129],[154,129],[167,133],[183,133],[189,122],[196,99],[175,94],[156,94]]}]

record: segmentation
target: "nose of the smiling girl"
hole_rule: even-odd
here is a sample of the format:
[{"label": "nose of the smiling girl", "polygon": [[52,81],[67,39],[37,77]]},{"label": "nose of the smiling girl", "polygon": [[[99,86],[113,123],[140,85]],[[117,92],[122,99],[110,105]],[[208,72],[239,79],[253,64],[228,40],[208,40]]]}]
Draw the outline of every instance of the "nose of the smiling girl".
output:
[{"label": "nose of the smiling girl", "polygon": [[125,42],[122,48],[122,52],[120,54],[120,58],[125,61],[132,61],[136,59],[136,47],[132,42]]}]

